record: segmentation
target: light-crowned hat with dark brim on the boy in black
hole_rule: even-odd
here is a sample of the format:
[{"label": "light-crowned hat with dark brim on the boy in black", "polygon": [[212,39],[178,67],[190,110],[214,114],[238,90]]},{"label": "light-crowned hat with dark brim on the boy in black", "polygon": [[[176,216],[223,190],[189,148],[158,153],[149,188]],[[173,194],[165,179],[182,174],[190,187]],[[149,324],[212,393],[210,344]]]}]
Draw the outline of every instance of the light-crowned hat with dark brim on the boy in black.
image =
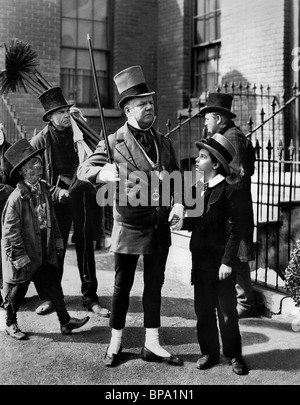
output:
[{"label": "light-crowned hat with dark brim on the boy in black", "polygon": [[210,138],[204,139],[201,142],[196,142],[196,146],[199,150],[202,148],[207,149],[213,154],[221,163],[227,175],[230,175],[229,163],[234,158],[236,150],[224,135],[217,132]]}]

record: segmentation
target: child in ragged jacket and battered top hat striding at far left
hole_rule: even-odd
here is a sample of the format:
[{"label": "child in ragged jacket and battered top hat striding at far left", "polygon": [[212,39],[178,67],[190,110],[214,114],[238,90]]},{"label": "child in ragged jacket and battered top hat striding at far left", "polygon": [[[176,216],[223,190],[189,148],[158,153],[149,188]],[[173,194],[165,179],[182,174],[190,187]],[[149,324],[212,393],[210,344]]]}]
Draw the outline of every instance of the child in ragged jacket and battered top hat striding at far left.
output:
[{"label": "child in ragged jacket and battered top hat striding at far left", "polygon": [[83,326],[89,317],[71,318],[64,302],[58,277],[58,256],[63,241],[53,210],[49,184],[43,173],[41,154],[23,138],[5,152],[13,169],[11,180],[17,183],[2,215],[3,301],[6,332],[17,340],[26,338],[17,322],[17,313],[30,281],[47,293],[57,313],[61,333],[68,335]]}]

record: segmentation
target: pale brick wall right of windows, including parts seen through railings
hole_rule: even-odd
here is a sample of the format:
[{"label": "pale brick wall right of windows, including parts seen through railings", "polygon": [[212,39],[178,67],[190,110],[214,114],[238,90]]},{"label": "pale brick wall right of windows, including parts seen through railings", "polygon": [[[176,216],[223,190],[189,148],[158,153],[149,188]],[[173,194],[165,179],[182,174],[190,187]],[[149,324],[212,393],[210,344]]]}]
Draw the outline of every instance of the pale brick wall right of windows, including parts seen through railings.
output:
[{"label": "pale brick wall right of windows, including parts seen through railings", "polygon": [[[261,97],[268,91],[277,98],[276,109],[281,106],[282,95],[287,79],[286,52],[288,50],[286,27],[288,26],[287,7],[284,0],[223,0],[221,9],[221,76],[223,83],[248,82],[252,98],[251,118],[254,126],[261,123],[261,111],[264,109],[267,119],[272,115],[272,98]],[[290,67],[291,71],[291,67]],[[262,87],[261,87],[262,86]],[[267,88],[269,87],[269,90]],[[238,89],[236,89],[238,91]],[[237,100],[239,98],[237,97]],[[255,105],[253,106],[253,103]],[[237,103],[237,123],[246,126],[249,119],[247,111],[240,112]],[[256,113],[255,113],[256,111]],[[242,116],[241,114],[244,114]],[[247,116],[246,116],[246,115]],[[248,113],[249,114],[249,113]],[[243,122],[242,122],[243,121]],[[276,144],[283,137],[282,120],[276,122]],[[264,128],[263,138],[257,135],[260,142],[272,136],[271,124]]]}]

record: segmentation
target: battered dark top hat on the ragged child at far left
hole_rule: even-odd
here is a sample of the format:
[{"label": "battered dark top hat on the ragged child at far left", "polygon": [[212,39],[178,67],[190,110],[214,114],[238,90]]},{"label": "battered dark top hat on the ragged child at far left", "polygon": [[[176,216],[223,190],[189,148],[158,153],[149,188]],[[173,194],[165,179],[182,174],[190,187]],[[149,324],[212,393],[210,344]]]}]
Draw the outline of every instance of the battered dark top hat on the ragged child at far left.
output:
[{"label": "battered dark top hat on the ragged child at far left", "polygon": [[34,149],[26,138],[22,138],[10,146],[4,154],[9,163],[13,166],[9,174],[10,178],[13,181],[17,181],[21,167],[34,156],[43,153],[45,149],[46,148]]}]

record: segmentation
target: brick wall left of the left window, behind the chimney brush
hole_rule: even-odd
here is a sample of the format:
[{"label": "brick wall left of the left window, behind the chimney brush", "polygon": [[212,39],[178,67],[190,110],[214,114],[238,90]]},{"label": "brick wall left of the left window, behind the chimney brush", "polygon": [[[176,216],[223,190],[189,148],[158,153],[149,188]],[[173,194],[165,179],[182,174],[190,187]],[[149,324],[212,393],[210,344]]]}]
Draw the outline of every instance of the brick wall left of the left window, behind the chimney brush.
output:
[{"label": "brick wall left of the left window, behind the chimney brush", "polygon": [[[32,45],[40,60],[39,70],[53,86],[59,84],[60,73],[60,1],[59,0],[0,0],[1,43],[18,38]],[[1,55],[1,65],[3,56]],[[9,93],[20,123],[30,138],[34,129],[40,130],[43,108],[38,95]]]}]

